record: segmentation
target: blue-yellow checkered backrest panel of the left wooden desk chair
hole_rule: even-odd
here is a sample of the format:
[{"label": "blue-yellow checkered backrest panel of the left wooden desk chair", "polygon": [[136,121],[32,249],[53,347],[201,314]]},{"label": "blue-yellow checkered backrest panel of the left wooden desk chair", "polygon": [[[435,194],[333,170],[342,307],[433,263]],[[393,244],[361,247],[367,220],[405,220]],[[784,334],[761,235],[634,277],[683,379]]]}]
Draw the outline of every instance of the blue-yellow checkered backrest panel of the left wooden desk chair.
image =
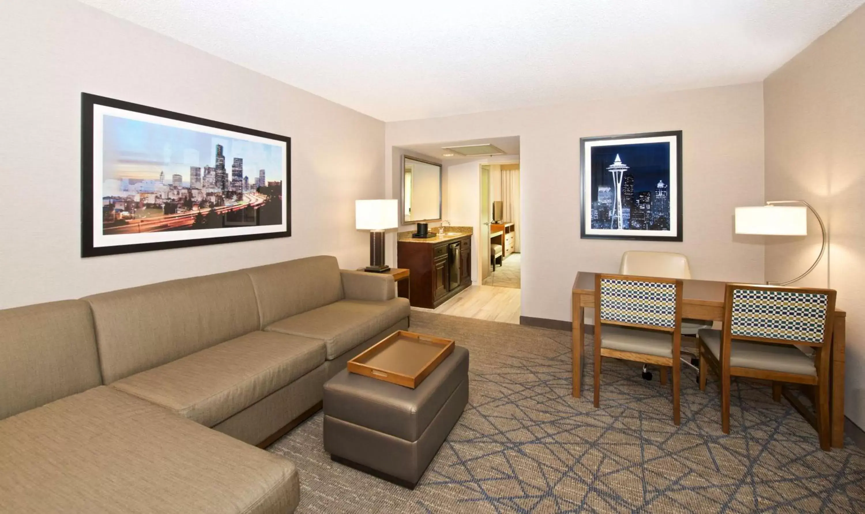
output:
[{"label": "blue-yellow checkered backrest panel of the left wooden desk chair", "polygon": [[602,278],[600,319],[676,327],[676,284]]}]

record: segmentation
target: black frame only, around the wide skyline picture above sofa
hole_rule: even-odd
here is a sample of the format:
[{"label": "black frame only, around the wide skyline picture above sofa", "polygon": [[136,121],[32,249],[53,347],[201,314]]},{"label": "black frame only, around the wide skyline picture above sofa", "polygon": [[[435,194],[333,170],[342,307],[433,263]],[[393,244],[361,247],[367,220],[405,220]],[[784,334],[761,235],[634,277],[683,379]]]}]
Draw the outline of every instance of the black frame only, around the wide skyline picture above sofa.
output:
[{"label": "black frame only, around the wide skyline picture above sofa", "polygon": [[[118,244],[111,246],[96,246],[93,241],[94,232],[94,195],[93,195],[93,164],[94,158],[102,158],[101,155],[93,155],[94,138],[94,106],[104,105],[121,109],[124,111],[138,112],[153,117],[162,117],[188,124],[201,125],[220,130],[229,130],[248,136],[256,136],[271,139],[275,142],[285,143],[285,158],[283,159],[281,201],[285,203],[283,215],[285,216],[285,229],[278,232],[250,233],[241,235],[212,236],[206,238],[190,238],[175,241],[158,241],[134,244]],[[280,206],[280,208],[282,208]],[[115,98],[107,98],[87,92],[81,93],[81,257],[100,257],[117,255],[139,251],[169,250],[173,248],[185,248],[191,246],[202,246],[207,244],[239,243],[243,241],[254,241],[259,239],[288,238],[292,235],[292,138],[280,136],[263,130],[248,129],[234,124],[226,124],[215,120],[189,116],[174,111],[166,111],[147,105],[139,105]],[[243,224],[236,224],[243,225]],[[283,224],[280,223],[281,227]],[[242,230],[242,229],[241,229]]]}]

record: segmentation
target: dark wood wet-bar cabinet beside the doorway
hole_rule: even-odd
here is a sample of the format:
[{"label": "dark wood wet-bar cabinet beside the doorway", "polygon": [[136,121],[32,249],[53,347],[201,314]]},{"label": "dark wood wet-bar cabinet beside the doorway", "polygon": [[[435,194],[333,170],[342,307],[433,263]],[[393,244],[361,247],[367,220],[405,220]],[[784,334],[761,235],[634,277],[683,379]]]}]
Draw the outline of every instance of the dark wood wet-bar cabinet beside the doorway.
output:
[{"label": "dark wood wet-bar cabinet beside the doorway", "polygon": [[471,285],[471,234],[396,244],[397,266],[410,270],[414,307],[436,308]]}]

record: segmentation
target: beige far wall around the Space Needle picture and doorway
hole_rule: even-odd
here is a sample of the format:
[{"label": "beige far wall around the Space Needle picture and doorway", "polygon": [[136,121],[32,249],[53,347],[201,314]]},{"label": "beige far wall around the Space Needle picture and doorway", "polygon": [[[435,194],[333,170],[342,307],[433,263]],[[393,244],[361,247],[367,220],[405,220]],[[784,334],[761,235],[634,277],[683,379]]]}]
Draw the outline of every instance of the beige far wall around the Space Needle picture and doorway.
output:
[{"label": "beige far wall around the Space Needle picture and doorway", "polygon": [[[684,131],[684,241],[580,239],[580,137],[657,130]],[[385,149],[496,136],[520,136],[522,315],[570,320],[577,270],[618,270],[632,249],[681,251],[698,278],[763,280],[762,242],[733,233],[734,206],[764,199],[761,84],[388,123]],[[398,169],[385,163],[390,198]]]}]

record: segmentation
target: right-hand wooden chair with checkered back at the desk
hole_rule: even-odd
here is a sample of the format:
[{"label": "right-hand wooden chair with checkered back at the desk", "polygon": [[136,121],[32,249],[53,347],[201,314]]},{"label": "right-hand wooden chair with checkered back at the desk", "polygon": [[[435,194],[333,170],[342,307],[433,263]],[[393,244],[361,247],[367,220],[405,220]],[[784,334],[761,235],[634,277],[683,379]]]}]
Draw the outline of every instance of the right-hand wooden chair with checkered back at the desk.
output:
[{"label": "right-hand wooden chair with checkered back at the desk", "polygon": [[[700,339],[700,389],[707,366],[721,378],[721,429],[730,433],[730,378],[772,380],[780,401],[781,383],[817,386],[816,419],[820,447],[830,449],[829,365],[835,316],[832,289],[727,284],[723,330],[703,329]],[[734,339],[735,338],[735,339]],[[811,357],[796,346],[811,346]],[[793,399],[798,403],[797,399]],[[808,416],[806,416],[806,419]]]}]

